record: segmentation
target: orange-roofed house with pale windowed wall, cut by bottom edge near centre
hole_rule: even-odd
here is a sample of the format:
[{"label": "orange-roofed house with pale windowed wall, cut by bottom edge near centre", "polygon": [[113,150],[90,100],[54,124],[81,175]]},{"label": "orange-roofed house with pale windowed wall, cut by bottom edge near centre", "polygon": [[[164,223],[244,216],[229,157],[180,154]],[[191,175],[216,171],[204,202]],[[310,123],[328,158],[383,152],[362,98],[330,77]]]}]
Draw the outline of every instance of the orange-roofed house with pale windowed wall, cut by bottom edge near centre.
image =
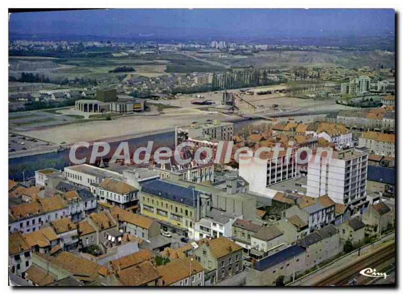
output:
[{"label": "orange-roofed house with pale windowed wall, cut by bottom edge near centre", "polygon": [[205,269],[193,257],[176,259],[157,267],[162,286],[204,286]]}]

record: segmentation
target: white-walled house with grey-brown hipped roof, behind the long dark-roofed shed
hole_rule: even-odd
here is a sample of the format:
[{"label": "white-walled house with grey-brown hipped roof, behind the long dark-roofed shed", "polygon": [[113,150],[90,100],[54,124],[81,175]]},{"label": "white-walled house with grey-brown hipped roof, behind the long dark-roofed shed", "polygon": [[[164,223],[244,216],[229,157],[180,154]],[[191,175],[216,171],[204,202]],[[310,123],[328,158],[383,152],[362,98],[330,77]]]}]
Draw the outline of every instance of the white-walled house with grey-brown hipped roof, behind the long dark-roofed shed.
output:
[{"label": "white-walled house with grey-brown hipped roof, behind the long dark-roofed shed", "polygon": [[258,258],[279,251],[285,246],[284,233],[277,225],[264,224],[251,236],[250,241],[250,255]]}]

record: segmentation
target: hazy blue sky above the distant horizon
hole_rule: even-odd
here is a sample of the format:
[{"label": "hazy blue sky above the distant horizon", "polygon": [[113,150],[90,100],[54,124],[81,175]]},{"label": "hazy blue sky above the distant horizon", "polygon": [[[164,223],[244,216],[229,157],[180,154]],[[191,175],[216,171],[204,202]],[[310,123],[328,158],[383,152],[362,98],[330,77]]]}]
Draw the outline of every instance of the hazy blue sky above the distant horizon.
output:
[{"label": "hazy blue sky above the distant horizon", "polygon": [[10,36],[167,38],[394,34],[392,9],[111,9],[14,13]]}]

